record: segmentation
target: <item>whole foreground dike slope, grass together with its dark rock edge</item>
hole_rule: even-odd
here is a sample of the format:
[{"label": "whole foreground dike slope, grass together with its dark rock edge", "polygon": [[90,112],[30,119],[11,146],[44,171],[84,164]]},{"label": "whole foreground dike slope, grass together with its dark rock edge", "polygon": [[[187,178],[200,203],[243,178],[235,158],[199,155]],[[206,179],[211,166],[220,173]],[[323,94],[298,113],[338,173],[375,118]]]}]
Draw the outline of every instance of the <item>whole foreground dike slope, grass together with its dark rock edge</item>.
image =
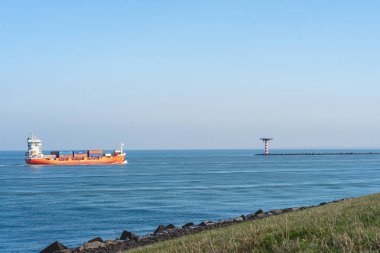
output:
[{"label": "whole foreground dike slope, grass together with its dark rock edge", "polygon": [[123,231],[118,240],[94,238],[74,249],[55,246],[60,248],[41,252],[380,252],[380,194],[198,225],[160,225],[143,237]]}]

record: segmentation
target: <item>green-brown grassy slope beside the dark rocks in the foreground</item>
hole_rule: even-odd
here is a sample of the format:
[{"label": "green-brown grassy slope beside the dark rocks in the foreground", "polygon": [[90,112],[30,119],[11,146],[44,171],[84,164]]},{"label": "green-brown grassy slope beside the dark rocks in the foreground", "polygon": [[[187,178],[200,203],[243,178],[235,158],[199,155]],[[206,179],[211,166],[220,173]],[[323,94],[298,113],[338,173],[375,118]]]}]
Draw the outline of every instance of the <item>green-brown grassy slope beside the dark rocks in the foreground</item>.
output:
[{"label": "green-brown grassy slope beside the dark rocks in the foreground", "polygon": [[380,194],[128,251],[137,252],[380,252]]}]

